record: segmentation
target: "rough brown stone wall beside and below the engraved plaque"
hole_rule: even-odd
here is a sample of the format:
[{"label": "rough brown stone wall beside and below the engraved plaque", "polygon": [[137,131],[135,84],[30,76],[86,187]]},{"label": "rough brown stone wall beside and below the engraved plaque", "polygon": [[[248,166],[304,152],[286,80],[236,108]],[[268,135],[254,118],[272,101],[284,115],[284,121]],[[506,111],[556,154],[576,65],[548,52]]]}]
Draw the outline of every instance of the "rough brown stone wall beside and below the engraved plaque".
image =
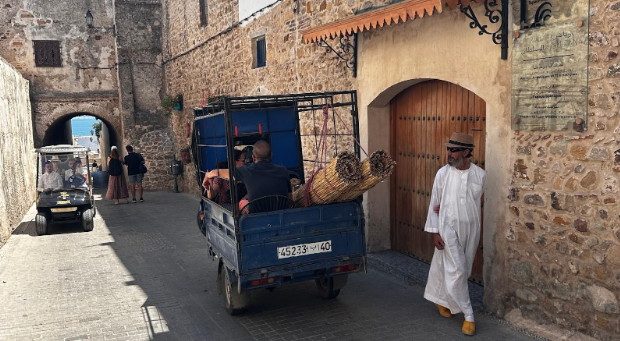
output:
[{"label": "rough brown stone wall beside and below the engraved plaque", "polygon": [[495,287],[506,311],[617,340],[620,2],[590,5],[588,130],[512,132]]}]

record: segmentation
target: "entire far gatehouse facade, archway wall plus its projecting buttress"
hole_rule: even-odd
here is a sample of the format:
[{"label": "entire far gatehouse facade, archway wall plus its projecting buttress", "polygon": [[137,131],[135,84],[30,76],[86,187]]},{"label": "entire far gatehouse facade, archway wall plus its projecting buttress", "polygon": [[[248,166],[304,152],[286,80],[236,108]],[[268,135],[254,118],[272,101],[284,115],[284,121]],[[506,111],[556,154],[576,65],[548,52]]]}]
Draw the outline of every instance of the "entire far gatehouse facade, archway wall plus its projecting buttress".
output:
[{"label": "entire far gatehouse facade, archway wall plus its projecting buttress", "polygon": [[31,81],[35,145],[71,143],[71,118],[95,116],[109,131],[104,157],[132,144],[147,161],[145,187],[156,189],[172,187],[161,47],[160,1],[2,3],[0,55]]}]

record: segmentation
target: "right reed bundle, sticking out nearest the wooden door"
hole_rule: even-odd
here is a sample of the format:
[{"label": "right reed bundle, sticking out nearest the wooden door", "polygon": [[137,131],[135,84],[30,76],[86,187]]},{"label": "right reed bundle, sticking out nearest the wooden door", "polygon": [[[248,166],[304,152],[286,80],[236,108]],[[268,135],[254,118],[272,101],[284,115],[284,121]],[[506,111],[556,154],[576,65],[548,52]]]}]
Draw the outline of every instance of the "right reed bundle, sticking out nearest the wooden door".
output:
[{"label": "right reed bundle, sticking out nearest the wooden door", "polygon": [[337,201],[350,201],[364,194],[367,190],[375,187],[379,182],[385,180],[392,171],[396,162],[384,150],[377,150],[370,154],[362,162],[362,181],[347,192],[343,192]]}]

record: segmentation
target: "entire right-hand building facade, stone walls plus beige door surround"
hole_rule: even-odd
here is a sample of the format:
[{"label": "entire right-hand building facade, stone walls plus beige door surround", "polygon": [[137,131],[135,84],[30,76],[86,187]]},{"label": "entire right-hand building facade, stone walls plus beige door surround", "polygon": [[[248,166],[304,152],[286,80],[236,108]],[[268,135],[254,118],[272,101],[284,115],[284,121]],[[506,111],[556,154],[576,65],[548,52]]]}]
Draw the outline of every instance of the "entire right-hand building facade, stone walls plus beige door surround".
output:
[{"label": "entire right-hand building facade, stone walls plus beige door surround", "polygon": [[[172,118],[175,150],[189,145],[191,108],[200,106],[207,93],[355,89],[362,146],[372,151],[393,147],[391,110],[407,89],[428,80],[466,89],[480,97],[487,113],[482,140],[488,174],[485,308],[509,320],[523,316],[604,340],[618,337],[619,2],[592,0],[585,14],[590,21],[589,128],[549,133],[511,129],[511,55],[501,60],[500,47],[489,36],[469,29],[471,20],[457,1],[265,1],[265,8],[247,20],[240,17],[246,13],[240,10],[243,0],[213,1],[206,25],[200,4],[163,5],[165,89],[182,93],[186,101]],[[483,17],[484,4],[471,5]],[[389,13],[397,6],[409,8]],[[519,2],[510,7],[510,22],[518,23]],[[359,29],[357,77],[332,53],[303,39],[308,30],[318,32],[373,11],[392,17],[380,25],[351,26]],[[509,29],[512,38],[519,28]],[[267,62],[254,68],[252,44],[261,36]],[[512,47],[509,39],[509,51]],[[192,166],[185,171],[182,190],[198,194]],[[386,181],[364,197],[372,252],[394,248],[393,190]]]}]

